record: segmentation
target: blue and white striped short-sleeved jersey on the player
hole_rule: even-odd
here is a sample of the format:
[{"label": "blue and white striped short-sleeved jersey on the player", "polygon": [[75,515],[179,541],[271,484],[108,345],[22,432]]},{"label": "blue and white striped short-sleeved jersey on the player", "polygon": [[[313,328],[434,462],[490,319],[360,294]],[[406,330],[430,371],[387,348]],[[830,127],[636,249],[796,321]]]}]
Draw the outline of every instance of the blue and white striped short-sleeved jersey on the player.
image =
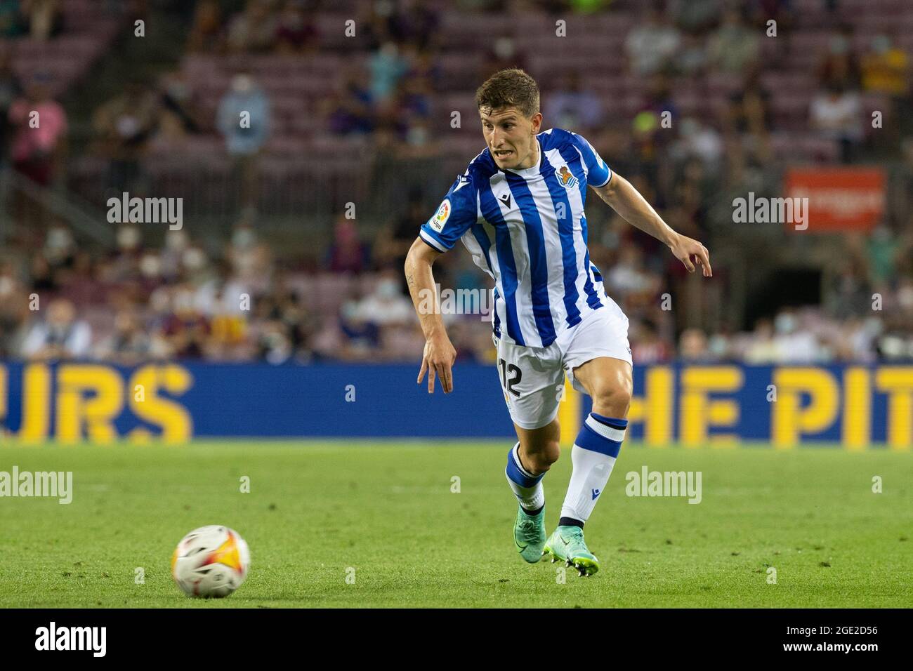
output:
[{"label": "blue and white striped short-sleeved jersey on the player", "polygon": [[531,168],[504,171],[488,148],[478,154],[419,234],[440,252],[462,238],[494,278],[498,338],[548,347],[606,303],[583,204],[587,185],[603,186],[612,171],[576,133],[553,128],[536,137],[540,158]]}]

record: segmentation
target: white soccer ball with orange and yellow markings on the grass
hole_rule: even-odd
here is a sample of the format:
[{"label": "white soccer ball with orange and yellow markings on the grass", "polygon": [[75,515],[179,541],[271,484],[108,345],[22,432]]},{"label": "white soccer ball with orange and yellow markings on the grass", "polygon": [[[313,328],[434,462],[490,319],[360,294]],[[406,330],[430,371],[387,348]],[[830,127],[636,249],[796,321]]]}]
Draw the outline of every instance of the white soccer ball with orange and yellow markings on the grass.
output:
[{"label": "white soccer ball with orange and yellow markings on the grass", "polygon": [[223,597],[247,578],[250,550],[235,529],[216,524],[194,529],[177,544],[172,575],[189,596]]}]

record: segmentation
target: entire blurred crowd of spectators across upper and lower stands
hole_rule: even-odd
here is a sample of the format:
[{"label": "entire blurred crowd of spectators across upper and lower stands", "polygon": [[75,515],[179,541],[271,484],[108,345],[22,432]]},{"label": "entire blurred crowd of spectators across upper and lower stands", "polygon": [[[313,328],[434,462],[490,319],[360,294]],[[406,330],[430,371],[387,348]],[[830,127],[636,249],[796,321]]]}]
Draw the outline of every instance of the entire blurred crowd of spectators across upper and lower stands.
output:
[{"label": "entire blurred crowd of spectators across upper and lower stands", "polygon": [[[825,8],[838,4],[822,2]],[[32,31],[34,37],[36,25],[46,26],[38,29],[51,37],[61,29],[59,22],[35,17],[54,5],[0,0],[0,30],[8,37]],[[306,58],[320,50],[316,17],[329,4],[247,0],[235,5],[239,9],[232,12],[215,0],[197,2],[187,53]],[[460,5],[548,12],[568,6],[481,0]],[[607,5],[570,3],[580,12]],[[320,132],[358,136],[405,160],[435,157],[441,147],[431,121],[432,101],[447,87],[437,41],[439,5],[380,0],[359,7],[357,24],[370,55],[363,67],[341,72],[336,89],[320,101]],[[715,240],[726,235],[708,226],[719,194],[770,187],[764,180],[774,158],[771,134],[782,130],[761,77],[770,66],[761,56],[762,26],[771,18],[789,35],[795,23],[792,3],[651,2],[644,20],[625,38],[624,58],[611,66],[646,82],[643,103],[630,121],[625,117],[619,125],[603,99],[571,69],[564,79],[542,82],[545,125],[584,134],[669,225],[702,240],[712,252]],[[818,90],[804,133],[836,143],[836,159],[854,163],[876,149],[866,132],[863,95],[887,96],[894,106],[886,110],[889,117],[908,115],[908,54],[883,35],[859,49],[853,26],[836,19],[822,27],[831,37],[816,61]],[[789,48],[789,40],[782,44]],[[478,81],[499,68],[524,67],[530,58],[512,37],[480,48],[487,54]],[[676,79],[719,74],[740,81],[722,115],[681,118],[673,96]],[[0,47],[0,161],[47,185],[66,173],[68,116],[49,98],[45,83],[40,77],[20,82]],[[26,131],[29,110],[40,110],[40,133]],[[113,193],[148,191],[143,157],[157,142],[218,134],[240,177],[240,223],[224,241],[170,231],[155,244],[142,227],[121,225],[115,248],[83,249],[67,225],[16,195],[6,204],[16,231],[0,255],[0,357],[125,364],[175,357],[273,363],[415,360],[423,340],[404,291],[403,260],[441,194],[413,188],[401,213],[371,225],[339,215],[323,248],[277,254],[257,233],[256,213],[258,161],[272,131],[270,110],[268,93],[243,68],[236,69],[213,114],[203,111],[181,70],[152,83],[127,82],[116,96],[102,100],[91,116],[88,151],[107,162],[106,183]],[[249,127],[236,122],[243,111],[250,112]],[[677,119],[673,131],[663,126],[666,111]],[[899,133],[901,124],[888,126]],[[747,329],[726,323],[713,330],[687,328],[681,306],[698,293],[719,290],[727,281],[726,268],[719,267],[717,289],[696,285],[666,248],[595,203],[588,212],[591,257],[603,272],[607,293],[631,319],[635,362],[677,357],[754,363],[913,360],[913,139],[897,135],[895,140],[900,167],[885,221],[871,233],[846,236],[845,255],[824,267],[819,305],[773,309]],[[442,257],[435,269],[445,288],[486,284],[460,251]],[[39,297],[38,309],[33,295]],[[666,295],[675,297],[676,309],[664,309]],[[446,320],[461,358],[488,361],[490,323],[478,314],[447,315]]]}]

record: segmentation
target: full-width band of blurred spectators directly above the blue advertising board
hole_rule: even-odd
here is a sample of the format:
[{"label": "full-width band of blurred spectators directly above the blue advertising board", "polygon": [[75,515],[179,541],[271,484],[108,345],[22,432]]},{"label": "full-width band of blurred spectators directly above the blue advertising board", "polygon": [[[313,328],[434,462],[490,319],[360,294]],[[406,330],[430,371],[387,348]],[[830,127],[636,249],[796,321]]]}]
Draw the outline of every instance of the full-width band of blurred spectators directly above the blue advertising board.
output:
[{"label": "full-width band of blurred spectators directly above the blue advertising board", "polygon": [[[250,225],[236,226],[222,257],[184,230],[169,231],[164,246],[145,245],[137,225],[121,226],[116,250],[92,255],[55,225],[39,250],[0,265],[0,357],[412,361],[424,341],[400,261],[424,220],[418,202],[409,224],[373,247],[341,217],[318,268],[278,261]],[[638,363],[913,361],[913,238],[878,228],[853,236],[851,249],[824,306],[783,308],[747,331],[665,334],[663,276],[646,266],[640,246],[623,246],[604,282],[631,317]],[[441,287],[484,290],[467,256],[442,257]],[[494,355],[490,303],[480,301],[476,313],[445,314],[461,361]]]}]

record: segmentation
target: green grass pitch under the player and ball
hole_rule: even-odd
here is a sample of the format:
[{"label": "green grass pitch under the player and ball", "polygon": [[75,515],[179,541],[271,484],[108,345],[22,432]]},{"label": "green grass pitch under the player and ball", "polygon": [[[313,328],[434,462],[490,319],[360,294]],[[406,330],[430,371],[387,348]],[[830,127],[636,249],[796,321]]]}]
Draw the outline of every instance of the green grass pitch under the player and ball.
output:
[{"label": "green grass pitch under the player and ball", "polygon": [[[913,454],[625,445],[586,526],[602,569],[562,583],[560,564],[526,564],[513,547],[508,447],[0,446],[0,470],[70,470],[74,489],[69,505],[0,498],[0,606],[913,605]],[[549,532],[570,462],[565,449],[544,480]],[[701,471],[702,501],[625,496],[625,474],[644,465]],[[250,546],[247,582],[227,599],[190,599],[171,578],[177,541],[205,524]]]}]

